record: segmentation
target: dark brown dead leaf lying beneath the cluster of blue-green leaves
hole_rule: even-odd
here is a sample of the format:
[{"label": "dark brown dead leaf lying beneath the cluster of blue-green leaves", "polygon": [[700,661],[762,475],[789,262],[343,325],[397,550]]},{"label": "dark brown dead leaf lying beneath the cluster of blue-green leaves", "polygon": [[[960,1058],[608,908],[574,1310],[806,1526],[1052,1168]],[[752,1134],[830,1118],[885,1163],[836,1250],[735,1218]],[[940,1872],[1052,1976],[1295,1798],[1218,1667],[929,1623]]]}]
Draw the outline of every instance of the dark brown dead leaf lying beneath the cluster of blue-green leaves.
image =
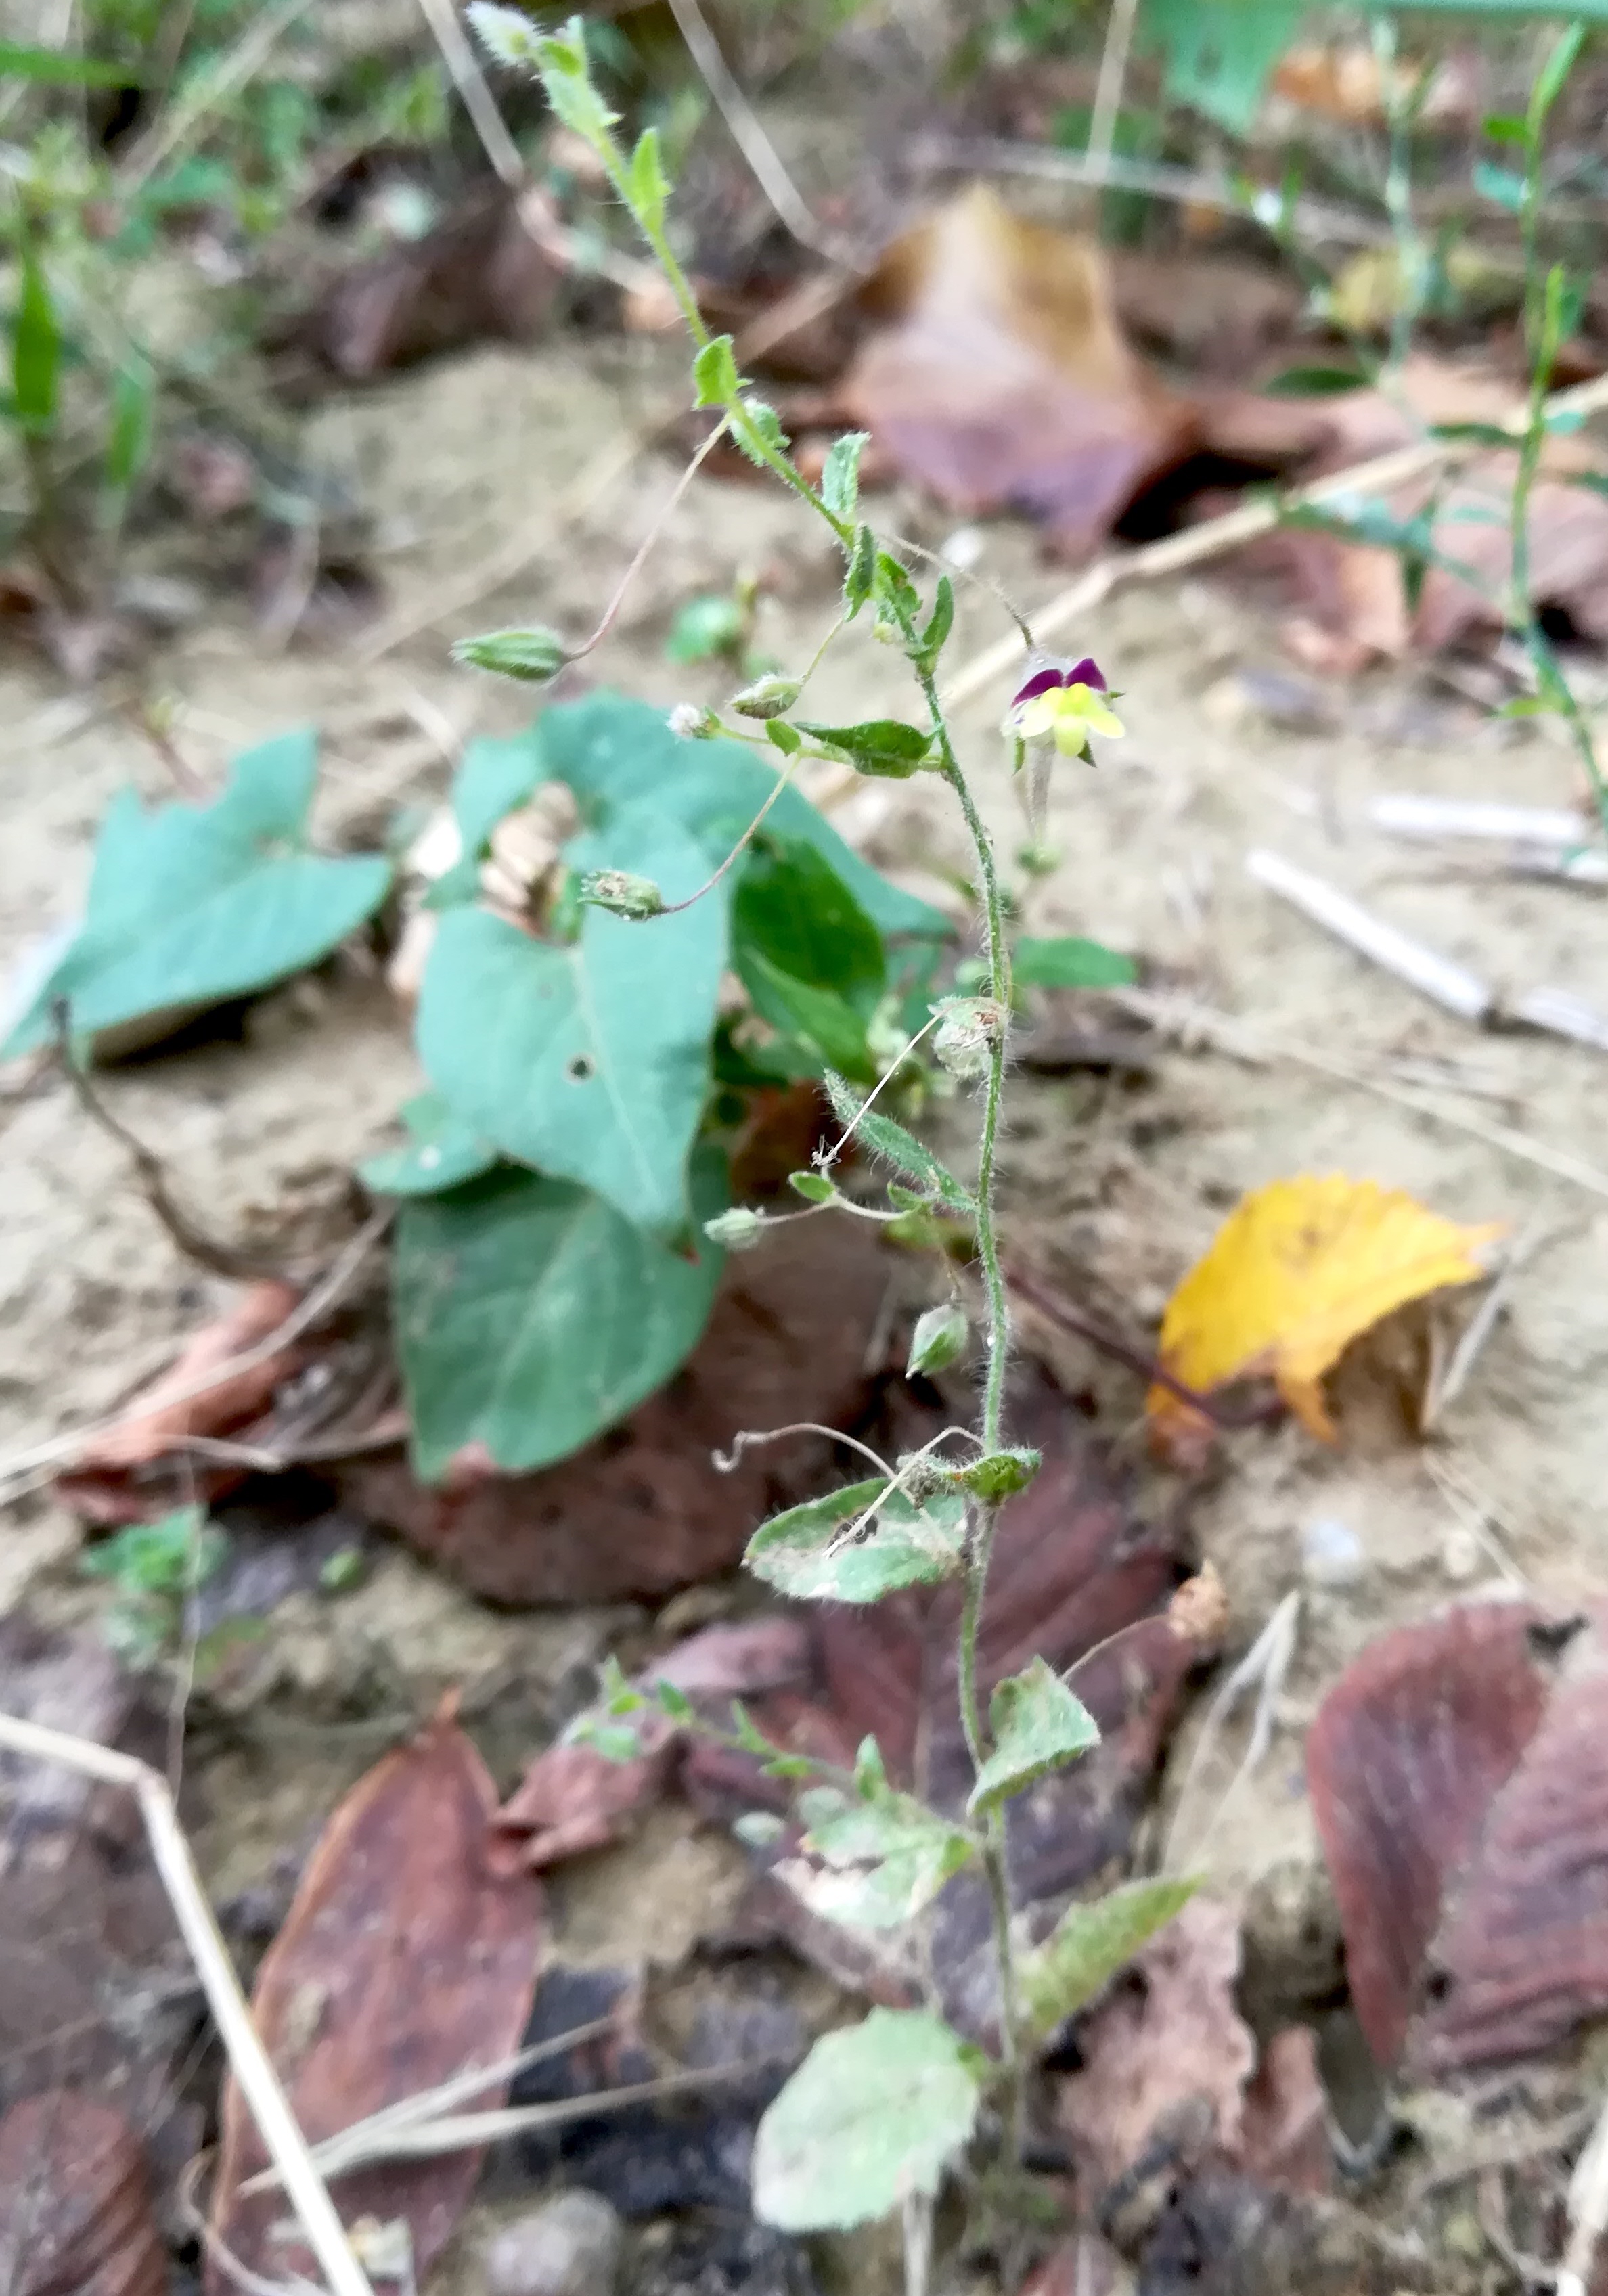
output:
[{"label": "dark brown dead leaf lying beneath the cluster of blue-green leaves", "polygon": [[855,1426],[871,1403],[889,1261],[852,1226],[781,1228],[733,1261],[691,1362],[574,1458],[517,1476],[466,1460],[443,1490],[400,1458],[354,1460],[342,1497],[494,1603],[613,1603],[730,1570],[767,1513],[818,1488],[827,1453],[776,1444],[735,1474],[710,1453],[742,1428]]}]

